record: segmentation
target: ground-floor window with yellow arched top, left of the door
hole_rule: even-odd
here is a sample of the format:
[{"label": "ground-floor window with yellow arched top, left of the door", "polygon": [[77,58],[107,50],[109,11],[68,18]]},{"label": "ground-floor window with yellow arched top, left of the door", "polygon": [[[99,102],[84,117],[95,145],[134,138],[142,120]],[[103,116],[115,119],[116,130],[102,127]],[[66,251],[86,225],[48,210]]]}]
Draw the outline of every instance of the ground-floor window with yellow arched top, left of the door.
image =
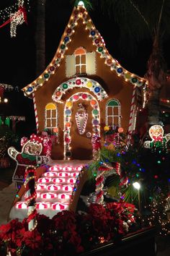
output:
[{"label": "ground-floor window with yellow arched top, left of the door", "polygon": [[58,111],[54,103],[48,103],[45,106],[45,129],[51,133],[58,127]]}]

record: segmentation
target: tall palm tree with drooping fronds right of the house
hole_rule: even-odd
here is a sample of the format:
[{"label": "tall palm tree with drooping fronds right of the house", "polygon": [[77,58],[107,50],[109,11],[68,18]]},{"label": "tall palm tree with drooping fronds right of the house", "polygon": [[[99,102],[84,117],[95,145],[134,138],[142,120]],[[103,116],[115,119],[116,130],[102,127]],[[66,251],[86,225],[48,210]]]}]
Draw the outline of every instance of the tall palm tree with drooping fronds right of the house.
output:
[{"label": "tall palm tree with drooping fronds right of the house", "polygon": [[[75,1],[77,4],[79,0]],[[120,27],[120,46],[128,43],[126,51],[134,53],[143,39],[152,42],[145,77],[148,79],[148,126],[159,123],[160,92],[166,82],[166,61],[163,43],[170,35],[169,0],[84,0],[86,7],[100,7],[112,15]],[[121,48],[125,48],[125,45]]]}]

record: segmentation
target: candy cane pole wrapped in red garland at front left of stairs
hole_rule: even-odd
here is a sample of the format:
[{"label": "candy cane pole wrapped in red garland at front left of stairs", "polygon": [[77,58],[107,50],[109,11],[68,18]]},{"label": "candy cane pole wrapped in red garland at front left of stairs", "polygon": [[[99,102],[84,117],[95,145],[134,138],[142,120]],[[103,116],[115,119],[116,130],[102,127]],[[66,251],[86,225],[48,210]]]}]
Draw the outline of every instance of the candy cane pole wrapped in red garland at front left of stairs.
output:
[{"label": "candy cane pole wrapped in red garland at front left of stairs", "polygon": [[35,199],[37,197],[37,193],[35,191],[35,166],[27,166],[24,174],[24,187],[26,188],[26,193],[24,195],[25,204],[27,205],[27,223],[28,230],[33,231],[37,226],[37,210],[35,205]]}]

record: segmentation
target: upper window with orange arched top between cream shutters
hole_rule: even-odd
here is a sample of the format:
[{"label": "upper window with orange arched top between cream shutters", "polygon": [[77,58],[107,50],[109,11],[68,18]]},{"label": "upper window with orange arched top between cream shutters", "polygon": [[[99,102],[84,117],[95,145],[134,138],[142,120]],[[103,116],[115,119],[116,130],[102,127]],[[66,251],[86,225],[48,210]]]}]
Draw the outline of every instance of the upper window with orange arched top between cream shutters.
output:
[{"label": "upper window with orange arched top between cream shutters", "polygon": [[86,50],[82,47],[79,47],[74,52],[76,57],[76,74],[86,73]]}]

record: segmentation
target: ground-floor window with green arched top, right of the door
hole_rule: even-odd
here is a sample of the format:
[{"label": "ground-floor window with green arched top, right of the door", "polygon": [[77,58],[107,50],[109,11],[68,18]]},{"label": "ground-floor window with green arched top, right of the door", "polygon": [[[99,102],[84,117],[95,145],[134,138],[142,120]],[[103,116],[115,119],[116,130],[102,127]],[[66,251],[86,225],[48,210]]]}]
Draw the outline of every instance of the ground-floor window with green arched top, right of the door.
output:
[{"label": "ground-floor window with green arched top, right of the door", "polygon": [[115,126],[121,127],[121,106],[120,102],[112,99],[106,105],[106,125],[114,129]]}]

